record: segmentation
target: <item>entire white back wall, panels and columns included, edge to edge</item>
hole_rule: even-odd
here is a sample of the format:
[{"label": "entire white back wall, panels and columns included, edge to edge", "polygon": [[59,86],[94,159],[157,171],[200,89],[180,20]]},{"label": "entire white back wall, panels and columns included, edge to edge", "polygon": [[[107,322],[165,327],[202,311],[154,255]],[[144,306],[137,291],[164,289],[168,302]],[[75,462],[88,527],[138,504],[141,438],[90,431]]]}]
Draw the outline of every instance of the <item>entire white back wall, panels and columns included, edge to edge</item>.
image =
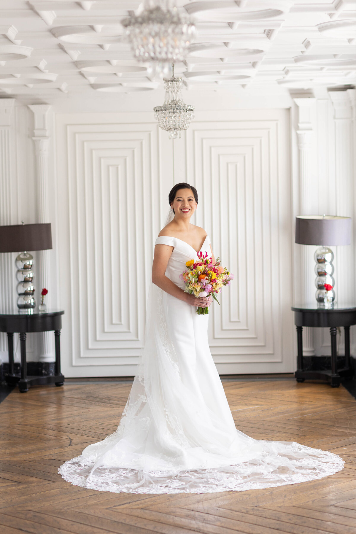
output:
[{"label": "entire white back wall, panels and columns included, edge to edge", "polygon": [[[65,375],[135,373],[144,343],[154,241],[169,208],[168,193],[183,181],[199,193],[192,222],[207,230],[215,255],[235,274],[220,307],[215,303],[210,310],[209,342],[219,372],[294,371],[290,306],[315,292],[306,261],[315,247],[304,247],[309,250],[302,253],[302,246],[294,244],[294,218],[304,202],[308,213],[355,220],[355,95],[355,90],[335,91],[308,101],[302,95],[303,101],[290,99],[290,109],[233,111],[226,109],[231,102],[215,98],[205,101],[210,111],[202,112],[189,93],[195,119],[174,142],[157,127],[152,112],[76,113],[70,101],[70,112],[53,106],[45,134],[48,198],[43,206],[52,223],[51,305],[65,310]],[[11,118],[2,115],[0,124],[9,139],[1,145],[0,218],[2,224],[39,222],[44,176],[36,168],[34,113],[16,102],[7,104]],[[339,301],[356,298],[353,250],[334,248]],[[43,274],[38,256],[37,298]],[[11,271],[13,258],[6,261]],[[0,273],[1,299],[5,302],[12,284],[15,302],[6,272]],[[40,336],[29,336],[29,360],[41,355]],[[353,353],[354,338],[353,332]],[[330,350],[327,329],[305,333],[305,342],[308,354]],[[339,348],[342,354],[342,337]],[[3,335],[0,357],[6,361]]]}]

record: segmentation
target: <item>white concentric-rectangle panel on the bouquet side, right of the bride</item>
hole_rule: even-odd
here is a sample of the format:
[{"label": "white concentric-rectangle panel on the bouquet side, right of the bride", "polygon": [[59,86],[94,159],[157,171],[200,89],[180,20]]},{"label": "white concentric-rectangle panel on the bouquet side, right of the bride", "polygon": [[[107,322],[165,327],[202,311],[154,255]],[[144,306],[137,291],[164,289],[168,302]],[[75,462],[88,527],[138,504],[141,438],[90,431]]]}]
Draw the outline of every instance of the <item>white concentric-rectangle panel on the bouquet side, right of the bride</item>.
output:
[{"label": "white concentric-rectangle panel on the bouquet side, right of the bride", "polygon": [[288,112],[219,116],[194,121],[176,156],[201,192],[197,224],[235,274],[210,312],[211,352],[221,373],[292,370]]}]

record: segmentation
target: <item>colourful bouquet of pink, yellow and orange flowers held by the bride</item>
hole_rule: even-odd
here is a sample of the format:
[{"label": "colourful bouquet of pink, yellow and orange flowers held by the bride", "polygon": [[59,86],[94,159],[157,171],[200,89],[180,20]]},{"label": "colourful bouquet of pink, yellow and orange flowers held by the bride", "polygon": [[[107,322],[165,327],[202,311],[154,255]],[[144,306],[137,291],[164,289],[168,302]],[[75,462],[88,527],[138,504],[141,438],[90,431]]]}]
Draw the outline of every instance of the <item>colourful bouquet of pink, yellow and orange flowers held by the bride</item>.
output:
[{"label": "colourful bouquet of pink, yellow and orange flowers held by the bride", "polygon": [[[186,263],[188,270],[179,275],[180,279],[185,282],[184,292],[194,294],[196,297],[211,295],[220,305],[216,295],[220,293],[221,287],[230,285],[234,275],[226,267],[220,265],[220,258],[213,263],[212,258],[208,258],[208,253],[204,256],[202,252],[198,253],[198,258],[198,261],[189,260]],[[206,315],[209,313],[209,307],[199,306],[196,313]]]}]

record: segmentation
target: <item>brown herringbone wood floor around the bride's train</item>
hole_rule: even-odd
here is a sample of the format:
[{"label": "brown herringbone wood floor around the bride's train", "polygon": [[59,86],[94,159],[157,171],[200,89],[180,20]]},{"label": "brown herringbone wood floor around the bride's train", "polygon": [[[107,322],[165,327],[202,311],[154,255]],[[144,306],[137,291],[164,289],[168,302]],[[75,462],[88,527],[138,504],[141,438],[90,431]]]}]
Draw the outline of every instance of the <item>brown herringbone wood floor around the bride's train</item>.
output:
[{"label": "brown herringbone wood floor around the bride's train", "polygon": [[130,383],[17,389],[0,404],[0,534],[356,534],[356,400],[292,380],[224,382],[236,427],[327,449],[345,468],[267,490],[145,496],[85,490],[57,468],[117,427]]}]

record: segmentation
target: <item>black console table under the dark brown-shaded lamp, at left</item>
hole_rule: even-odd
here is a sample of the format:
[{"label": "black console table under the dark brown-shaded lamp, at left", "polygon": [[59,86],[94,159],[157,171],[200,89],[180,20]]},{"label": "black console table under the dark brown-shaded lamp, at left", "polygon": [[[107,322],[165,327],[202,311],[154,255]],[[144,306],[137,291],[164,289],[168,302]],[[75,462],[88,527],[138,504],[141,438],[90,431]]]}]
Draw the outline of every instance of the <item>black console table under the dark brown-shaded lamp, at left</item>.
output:
[{"label": "black console table under the dark brown-shaded lamp, at left", "polygon": [[[7,333],[9,344],[9,373],[5,374],[5,380],[10,385],[19,384],[21,393],[28,391],[29,386],[35,384],[56,384],[62,386],[65,380],[60,372],[60,344],[59,336],[62,327],[62,315],[64,311],[56,310],[50,312],[35,313],[0,313],[0,332]],[[54,376],[27,376],[26,369],[26,334],[28,332],[48,332],[54,330],[54,341],[56,347],[56,364]],[[13,361],[13,334],[20,333],[21,350],[21,374],[14,373]]]}]

